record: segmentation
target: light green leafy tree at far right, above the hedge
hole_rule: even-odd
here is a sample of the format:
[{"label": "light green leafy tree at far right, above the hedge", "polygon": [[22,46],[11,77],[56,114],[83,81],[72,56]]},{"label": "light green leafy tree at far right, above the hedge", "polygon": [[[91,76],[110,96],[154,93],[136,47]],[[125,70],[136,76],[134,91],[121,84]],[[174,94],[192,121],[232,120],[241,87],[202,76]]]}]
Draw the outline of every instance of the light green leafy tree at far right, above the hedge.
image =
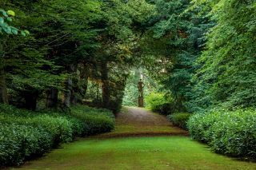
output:
[{"label": "light green leafy tree at far right, above the hedge", "polygon": [[255,106],[255,2],[193,1],[217,24],[206,35],[197,60],[193,105],[198,109]]}]

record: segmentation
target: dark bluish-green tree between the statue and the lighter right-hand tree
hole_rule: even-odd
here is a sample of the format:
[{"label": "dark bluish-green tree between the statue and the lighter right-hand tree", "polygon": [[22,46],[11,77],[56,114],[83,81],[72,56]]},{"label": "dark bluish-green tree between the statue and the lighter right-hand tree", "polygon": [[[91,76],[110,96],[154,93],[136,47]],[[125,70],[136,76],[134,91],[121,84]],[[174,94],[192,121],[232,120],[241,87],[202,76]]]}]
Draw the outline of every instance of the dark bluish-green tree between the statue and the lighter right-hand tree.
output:
[{"label": "dark bluish-green tree between the statue and the lighter right-hand tree", "polygon": [[154,3],[157,13],[151,18],[150,32],[153,35],[148,34],[151,39],[145,38],[143,43],[145,50],[150,51],[149,68],[153,77],[163,85],[164,93],[173,97],[180,109],[191,112],[194,61],[212,23],[207,17],[198,16],[198,10],[186,11],[190,1],[155,0]]}]

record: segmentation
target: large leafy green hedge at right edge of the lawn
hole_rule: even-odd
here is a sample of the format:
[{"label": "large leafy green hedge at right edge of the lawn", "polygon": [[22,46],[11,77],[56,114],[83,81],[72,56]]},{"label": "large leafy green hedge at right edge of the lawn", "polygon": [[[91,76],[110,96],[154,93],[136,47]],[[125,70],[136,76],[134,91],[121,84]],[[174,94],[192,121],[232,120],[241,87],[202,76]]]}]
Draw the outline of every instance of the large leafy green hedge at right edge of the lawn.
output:
[{"label": "large leafy green hedge at right edge of the lawn", "polygon": [[256,158],[256,111],[216,111],[195,114],[188,121],[191,136],[215,152]]}]

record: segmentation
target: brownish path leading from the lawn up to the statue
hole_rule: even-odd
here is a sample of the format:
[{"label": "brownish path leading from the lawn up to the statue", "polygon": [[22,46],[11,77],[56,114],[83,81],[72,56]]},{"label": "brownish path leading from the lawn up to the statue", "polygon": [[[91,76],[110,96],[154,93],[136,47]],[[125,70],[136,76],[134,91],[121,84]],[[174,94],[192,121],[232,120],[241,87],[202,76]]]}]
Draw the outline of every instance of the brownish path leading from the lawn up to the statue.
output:
[{"label": "brownish path leading from the lawn up to the statue", "polygon": [[104,133],[92,138],[111,138],[127,136],[188,136],[188,132],[174,127],[165,116],[152,113],[146,109],[125,107],[116,117],[116,128],[113,132]]}]

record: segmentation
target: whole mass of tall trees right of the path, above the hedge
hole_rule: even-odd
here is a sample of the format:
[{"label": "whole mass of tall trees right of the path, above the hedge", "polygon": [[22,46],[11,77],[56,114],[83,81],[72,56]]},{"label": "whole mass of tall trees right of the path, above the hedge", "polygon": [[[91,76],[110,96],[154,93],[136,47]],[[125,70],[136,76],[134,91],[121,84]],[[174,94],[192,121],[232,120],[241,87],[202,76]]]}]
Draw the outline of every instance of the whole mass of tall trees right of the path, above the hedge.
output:
[{"label": "whole mass of tall trees right of the path, above the hedge", "polygon": [[254,107],[255,2],[154,3],[146,61],[176,105],[189,112]]}]

